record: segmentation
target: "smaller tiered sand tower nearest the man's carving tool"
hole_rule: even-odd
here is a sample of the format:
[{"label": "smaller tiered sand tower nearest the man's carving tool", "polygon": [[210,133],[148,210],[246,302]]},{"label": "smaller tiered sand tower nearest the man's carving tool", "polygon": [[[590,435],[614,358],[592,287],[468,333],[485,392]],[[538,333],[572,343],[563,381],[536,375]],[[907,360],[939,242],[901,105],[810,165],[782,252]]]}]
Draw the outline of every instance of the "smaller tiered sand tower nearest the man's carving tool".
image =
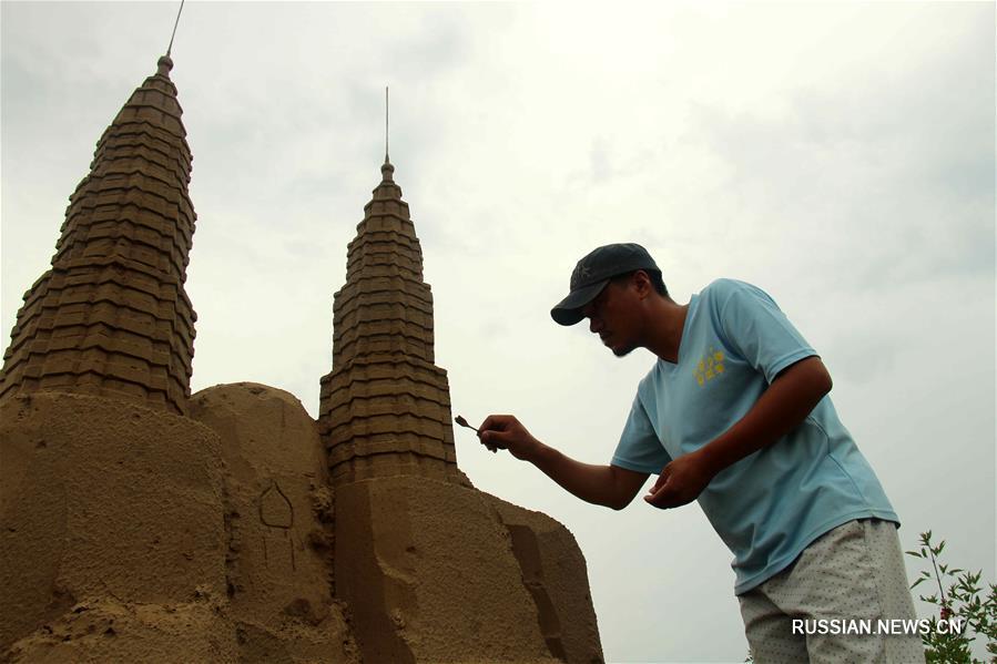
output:
[{"label": "smaller tiered sand tower nearest the man's carving tool", "polygon": [[423,251],[387,155],[380,172],[347,247],[346,284],[333,305],[333,371],[322,378],[319,432],[334,484],[457,474]]}]

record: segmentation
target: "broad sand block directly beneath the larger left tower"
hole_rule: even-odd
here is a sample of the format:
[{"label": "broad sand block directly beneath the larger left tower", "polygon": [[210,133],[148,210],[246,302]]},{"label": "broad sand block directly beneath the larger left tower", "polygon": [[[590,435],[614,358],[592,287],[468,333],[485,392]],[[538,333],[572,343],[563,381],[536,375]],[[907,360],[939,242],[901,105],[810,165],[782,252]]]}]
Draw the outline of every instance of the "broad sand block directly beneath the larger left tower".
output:
[{"label": "broad sand block directly beneath the larger left tower", "polygon": [[101,397],[0,402],[0,650],[78,599],[224,596],[217,436]]}]

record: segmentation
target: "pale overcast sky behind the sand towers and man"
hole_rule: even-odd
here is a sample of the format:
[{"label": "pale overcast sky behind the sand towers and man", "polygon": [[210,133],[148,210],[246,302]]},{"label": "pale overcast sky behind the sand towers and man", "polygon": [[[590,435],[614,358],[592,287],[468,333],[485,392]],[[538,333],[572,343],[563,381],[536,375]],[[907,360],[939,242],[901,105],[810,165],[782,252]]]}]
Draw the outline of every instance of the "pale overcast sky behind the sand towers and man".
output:
[{"label": "pale overcast sky behind the sand towers and man", "polygon": [[[0,6],[7,339],[176,8]],[[579,257],[639,242],[680,303],[716,277],[767,290],[830,368],[904,546],[933,529],[993,581],[994,24],[993,3],[187,2],[192,389],[263,382],[316,416],[390,85],[454,415],[513,412],[608,462],[653,358],[548,311]],[[574,533],[608,661],[744,658],[731,554],[696,505],[588,505],[455,436],[479,489]]]}]

